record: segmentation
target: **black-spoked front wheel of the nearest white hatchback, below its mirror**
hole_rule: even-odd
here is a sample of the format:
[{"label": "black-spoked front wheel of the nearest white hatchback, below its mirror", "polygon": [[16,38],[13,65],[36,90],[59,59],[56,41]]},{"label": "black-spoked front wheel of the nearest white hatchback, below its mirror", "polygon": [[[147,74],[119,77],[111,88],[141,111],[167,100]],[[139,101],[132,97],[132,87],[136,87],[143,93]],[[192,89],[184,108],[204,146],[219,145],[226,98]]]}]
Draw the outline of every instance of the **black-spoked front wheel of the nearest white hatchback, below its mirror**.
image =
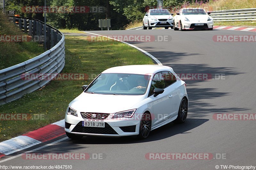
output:
[{"label": "black-spoked front wheel of the nearest white hatchback, below its mirror", "polygon": [[148,112],[145,112],[140,120],[140,129],[138,138],[145,139],[148,138],[149,133],[151,131],[151,115]]}]

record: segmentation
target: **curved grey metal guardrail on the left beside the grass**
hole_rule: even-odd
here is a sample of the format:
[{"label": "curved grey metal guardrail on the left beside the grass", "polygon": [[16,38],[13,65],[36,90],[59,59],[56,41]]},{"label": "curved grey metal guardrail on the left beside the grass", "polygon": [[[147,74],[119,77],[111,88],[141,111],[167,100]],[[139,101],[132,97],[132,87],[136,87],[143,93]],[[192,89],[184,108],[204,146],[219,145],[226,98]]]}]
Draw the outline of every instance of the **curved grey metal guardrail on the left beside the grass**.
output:
[{"label": "curved grey metal guardrail on the left beside the grass", "polygon": [[[17,21],[18,23],[16,23]],[[13,17],[13,22],[33,38],[43,35],[44,23],[39,20]],[[51,47],[49,50],[30,60],[0,70],[0,105],[42,88],[63,69],[65,65],[65,37],[60,31],[47,24],[46,35],[48,37],[46,44]],[[40,79],[40,77],[25,80],[24,75],[26,74],[42,76],[51,74],[51,76],[47,76],[46,80]]]}]

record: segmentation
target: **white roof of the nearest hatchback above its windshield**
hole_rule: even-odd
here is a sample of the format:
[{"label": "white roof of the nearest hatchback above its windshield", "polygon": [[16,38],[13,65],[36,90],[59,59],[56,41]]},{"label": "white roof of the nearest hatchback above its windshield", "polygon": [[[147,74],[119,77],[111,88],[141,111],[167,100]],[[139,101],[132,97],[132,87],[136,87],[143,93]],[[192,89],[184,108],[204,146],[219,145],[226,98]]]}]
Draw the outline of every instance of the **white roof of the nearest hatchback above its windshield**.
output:
[{"label": "white roof of the nearest hatchback above its windshield", "polygon": [[108,68],[102,73],[128,73],[128,74],[155,74],[160,71],[170,71],[173,70],[168,66],[159,66],[159,65],[129,65],[129,66],[117,66]]}]

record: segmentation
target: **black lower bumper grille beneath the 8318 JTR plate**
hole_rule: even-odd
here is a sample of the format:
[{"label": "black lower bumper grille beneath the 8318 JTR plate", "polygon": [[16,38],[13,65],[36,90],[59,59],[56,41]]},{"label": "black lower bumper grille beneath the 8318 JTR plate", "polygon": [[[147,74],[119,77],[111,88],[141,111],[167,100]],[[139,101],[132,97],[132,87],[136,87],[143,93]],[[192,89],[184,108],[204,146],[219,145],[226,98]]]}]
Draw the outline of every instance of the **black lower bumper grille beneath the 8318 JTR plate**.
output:
[{"label": "black lower bumper grille beneath the 8318 JTR plate", "polygon": [[111,134],[111,135],[118,135],[116,131],[107,123],[105,123],[104,128],[100,127],[84,127],[82,126],[82,122],[79,122],[72,132],[79,132],[79,133],[95,133],[95,134]]}]

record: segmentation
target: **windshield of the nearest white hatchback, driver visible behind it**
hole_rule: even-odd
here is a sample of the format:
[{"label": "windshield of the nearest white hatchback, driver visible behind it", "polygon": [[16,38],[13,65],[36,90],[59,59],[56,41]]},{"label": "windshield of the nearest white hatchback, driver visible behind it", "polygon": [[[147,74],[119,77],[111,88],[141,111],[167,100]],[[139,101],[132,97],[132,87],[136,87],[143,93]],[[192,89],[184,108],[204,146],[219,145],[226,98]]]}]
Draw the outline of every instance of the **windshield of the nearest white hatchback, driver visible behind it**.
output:
[{"label": "windshield of the nearest white hatchback, driver visible behind it", "polygon": [[85,93],[143,95],[147,90],[149,77],[142,74],[104,73],[88,86]]}]

